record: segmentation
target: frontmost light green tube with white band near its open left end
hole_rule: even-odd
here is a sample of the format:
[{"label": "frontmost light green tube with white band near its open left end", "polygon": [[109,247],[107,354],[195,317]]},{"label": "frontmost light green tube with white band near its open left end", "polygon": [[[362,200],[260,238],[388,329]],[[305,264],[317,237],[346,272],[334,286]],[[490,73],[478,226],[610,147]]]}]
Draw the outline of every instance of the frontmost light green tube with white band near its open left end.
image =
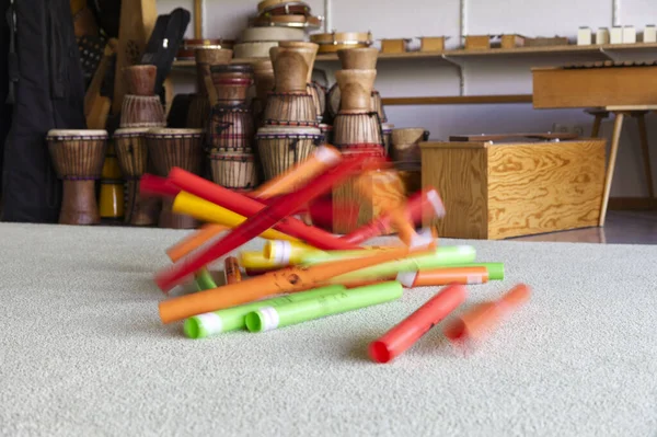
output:
[{"label": "frontmost light green tube with white band near its open left end", "polygon": [[402,285],[396,280],[391,280],[367,287],[345,289],[334,295],[276,308],[265,307],[246,314],[246,329],[251,332],[272,331],[326,315],[390,302],[401,298],[402,294]]}]

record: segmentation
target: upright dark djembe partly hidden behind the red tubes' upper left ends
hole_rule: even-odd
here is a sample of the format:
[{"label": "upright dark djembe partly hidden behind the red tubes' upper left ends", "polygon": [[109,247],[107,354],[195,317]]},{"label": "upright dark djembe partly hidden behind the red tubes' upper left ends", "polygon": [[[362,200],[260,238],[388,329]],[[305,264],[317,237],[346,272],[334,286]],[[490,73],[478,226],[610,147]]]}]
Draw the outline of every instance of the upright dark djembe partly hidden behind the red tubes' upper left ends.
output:
[{"label": "upright dark djembe partly hidden behind the red tubes' upper left ends", "polygon": [[[200,175],[204,170],[204,130],[154,128],[146,134],[148,153],[155,173],[169,175],[174,166]],[[174,214],[173,200],[162,200],[159,226],[161,228],[194,229],[199,222],[191,216]]]}]

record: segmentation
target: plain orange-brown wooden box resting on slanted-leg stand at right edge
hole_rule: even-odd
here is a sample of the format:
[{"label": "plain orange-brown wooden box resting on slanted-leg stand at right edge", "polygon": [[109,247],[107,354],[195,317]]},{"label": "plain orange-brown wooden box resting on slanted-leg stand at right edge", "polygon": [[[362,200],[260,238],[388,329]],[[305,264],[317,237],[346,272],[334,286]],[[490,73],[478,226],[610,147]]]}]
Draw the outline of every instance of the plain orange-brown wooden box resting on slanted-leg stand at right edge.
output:
[{"label": "plain orange-brown wooden box resting on slanted-leg stand at right edge", "polygon": [[532,69],[535,108],[654,105],[657,66]]}]

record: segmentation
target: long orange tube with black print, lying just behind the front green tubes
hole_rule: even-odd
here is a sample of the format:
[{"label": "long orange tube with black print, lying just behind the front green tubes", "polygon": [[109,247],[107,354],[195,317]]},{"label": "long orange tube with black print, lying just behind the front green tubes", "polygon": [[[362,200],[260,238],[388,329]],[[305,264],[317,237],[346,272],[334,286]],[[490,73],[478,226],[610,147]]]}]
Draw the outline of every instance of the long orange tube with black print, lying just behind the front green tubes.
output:
[{"label": "long orange tube with black print, lying just behind the front green tubes", "polygon": [[281,268],[238,284],[184,295],[160,302],[160,319],[163,323],[172,323],[192,315],[252,302],[273,295],[310,290],[334,276],[390,262],[415,252],[423,253],[427,250],[426,248],[416,250],[400,248],[377,252],[372,256],[350,260],[348,263],[338,260],[312,267],[291,266]]}]

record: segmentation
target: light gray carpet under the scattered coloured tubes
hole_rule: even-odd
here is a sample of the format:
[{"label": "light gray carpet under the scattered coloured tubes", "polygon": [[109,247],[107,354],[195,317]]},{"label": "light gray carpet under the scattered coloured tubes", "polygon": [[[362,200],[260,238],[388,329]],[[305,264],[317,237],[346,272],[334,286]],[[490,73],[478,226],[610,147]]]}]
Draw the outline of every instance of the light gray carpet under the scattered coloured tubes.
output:
[{"label": "light gray carpet under the scattered coloured tubes", "polygon": [[0,434],[657,433],[657,246],[458,241],[507,268],[504,283],[470,287],[466,307],[519,281],[531,301],[470,350],[435,329],[377,365],[368,343],[436,289],[193,341],[159,322],[151,283],[185,234],[0,225]]}]

